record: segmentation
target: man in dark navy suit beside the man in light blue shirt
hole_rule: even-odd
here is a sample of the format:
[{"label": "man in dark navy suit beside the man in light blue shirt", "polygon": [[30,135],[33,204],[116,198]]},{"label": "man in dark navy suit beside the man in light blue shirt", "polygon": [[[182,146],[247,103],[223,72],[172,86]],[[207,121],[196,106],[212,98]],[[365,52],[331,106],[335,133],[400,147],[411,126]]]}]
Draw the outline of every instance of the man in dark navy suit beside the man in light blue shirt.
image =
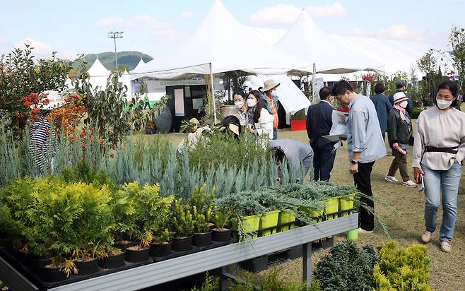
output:
[{"label": "man in dark navy suit beside the man in light blue shirt", "polygon": [[331,116],[334,108],[331,102],[333,102],[334,96],[331,95],[331,90],[328,87],[323,87],[319,90],[319,99],[322,101],[308,107],[307,135],[314,152],[313,179],[315,181],[329,181],[336,157],[336,149],[333,142],[322,136],[329,135],[333,125]]}]

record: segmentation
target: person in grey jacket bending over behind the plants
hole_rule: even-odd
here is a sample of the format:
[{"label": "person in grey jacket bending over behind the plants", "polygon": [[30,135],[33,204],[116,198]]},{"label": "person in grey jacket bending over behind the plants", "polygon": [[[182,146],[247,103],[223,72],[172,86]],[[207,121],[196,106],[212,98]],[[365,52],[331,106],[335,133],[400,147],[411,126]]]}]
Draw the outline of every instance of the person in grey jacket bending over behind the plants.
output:
[{"label": "person in grey jacket bending over behind the plants", "polygon": [[[297,182],[305,181],[313,163],[313,150],[310,145],[293,139],[277,139],[270,141],[270,149],[276,150],[276,162],[283,162],[284,158],[288,160],[289,165],[295,170]],[[304,177],[300,177],[301,168]]]}]

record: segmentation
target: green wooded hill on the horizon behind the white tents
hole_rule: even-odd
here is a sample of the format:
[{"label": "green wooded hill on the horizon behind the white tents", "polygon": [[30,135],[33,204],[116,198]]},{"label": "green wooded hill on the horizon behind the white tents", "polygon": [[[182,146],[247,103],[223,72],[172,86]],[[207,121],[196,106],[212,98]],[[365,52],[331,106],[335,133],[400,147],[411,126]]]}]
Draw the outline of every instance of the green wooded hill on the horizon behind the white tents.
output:
[{"label": "green wooded hill on the horizon behind the white tents", "polygon": [[[129,71],[133,70],[136,68],[137,64],[139,64],[141,57],[145,62],[153,59],[153,57],[148,54],[143,54],[141,52],[118,52],[119,69],[128,69]],[[96,58],[97,54],[86,54],[84,56],[84,59],[87,61],[87,69],[92,66]],[[116,64],[114,63],[114,52],[101,52],[98,54],[98,59],[108,70],[111,71],[116,68]]]}]

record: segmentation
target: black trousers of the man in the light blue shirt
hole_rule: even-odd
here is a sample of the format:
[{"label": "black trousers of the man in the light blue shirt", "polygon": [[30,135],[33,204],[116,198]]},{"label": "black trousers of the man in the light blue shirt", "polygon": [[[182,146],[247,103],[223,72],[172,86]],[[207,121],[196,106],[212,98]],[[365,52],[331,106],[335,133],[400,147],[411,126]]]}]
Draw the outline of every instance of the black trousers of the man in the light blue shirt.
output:
[{"label": "black trousers of the man in the light blue shirt", "polygon": [[[372,198],[373,192],[371,191],[371,171],[373,170],[373,165],[375,162],[358,162],[358,173],[353,175],[353,182],[358,191],[366,196]],[[372,208],[370,211],[375,211],[375,203],[372,199],[362,197],[360,198],[360,203]],[[360,206],[358,213],[358,224],[364,230],[371,231],[375,227],[375,216],[373,213],[370,213],[364,206]]]}]

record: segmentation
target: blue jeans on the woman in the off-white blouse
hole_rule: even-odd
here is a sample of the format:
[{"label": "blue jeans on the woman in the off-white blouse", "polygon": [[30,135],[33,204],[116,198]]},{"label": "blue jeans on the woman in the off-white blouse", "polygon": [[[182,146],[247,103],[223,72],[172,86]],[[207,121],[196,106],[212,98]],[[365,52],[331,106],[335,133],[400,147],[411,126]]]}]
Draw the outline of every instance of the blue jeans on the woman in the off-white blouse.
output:
[{"label": "blue jeans on the woman in the off-white blouse", "polygon": [[423,181],[425,182],[425,227],[428,232],[436,230],[437,209],[440,206],[442,192],[442,225],[439,234],[441,242],[450,242],[454,236],[457,217],[457,193],[461,177],[461,166],[454,162],[449,170],[431,170],[425,165]]}]

